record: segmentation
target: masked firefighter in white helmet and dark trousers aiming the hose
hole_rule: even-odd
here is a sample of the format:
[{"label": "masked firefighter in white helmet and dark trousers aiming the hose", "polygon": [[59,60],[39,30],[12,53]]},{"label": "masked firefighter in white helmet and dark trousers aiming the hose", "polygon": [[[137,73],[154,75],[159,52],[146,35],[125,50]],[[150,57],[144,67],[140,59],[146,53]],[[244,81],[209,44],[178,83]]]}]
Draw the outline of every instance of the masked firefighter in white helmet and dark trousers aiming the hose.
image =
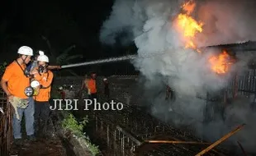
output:
[{"label": "masked firefighter in white helmet and dark trousers aiming the hose", "polygon": [[38,132],[42,130],[43,134],[46,134],[46,124],[50,114],[50,89],[51,83],[54,77],[52,71],[48,67],[49,58],[40,51],[40,56],[37,57],[38,67],[34,68],[31,72],[34,75],[34,79],[40,83],[40,91],[35,99],[35,128]]}]

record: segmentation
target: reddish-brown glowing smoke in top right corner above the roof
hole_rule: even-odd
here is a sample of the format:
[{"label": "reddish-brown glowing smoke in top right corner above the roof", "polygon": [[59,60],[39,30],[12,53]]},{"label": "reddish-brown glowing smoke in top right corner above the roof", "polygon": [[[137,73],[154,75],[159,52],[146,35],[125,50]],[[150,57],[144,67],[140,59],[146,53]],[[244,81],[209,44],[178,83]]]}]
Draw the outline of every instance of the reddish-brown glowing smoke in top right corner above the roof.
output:
[{"label": "reddish-brown glowing smoke in top right corner above the roof", "polygon": [[225,0],[201,3],[197,16],[205,23],[198,44],[234,44],[255,40],[255,1]]}]

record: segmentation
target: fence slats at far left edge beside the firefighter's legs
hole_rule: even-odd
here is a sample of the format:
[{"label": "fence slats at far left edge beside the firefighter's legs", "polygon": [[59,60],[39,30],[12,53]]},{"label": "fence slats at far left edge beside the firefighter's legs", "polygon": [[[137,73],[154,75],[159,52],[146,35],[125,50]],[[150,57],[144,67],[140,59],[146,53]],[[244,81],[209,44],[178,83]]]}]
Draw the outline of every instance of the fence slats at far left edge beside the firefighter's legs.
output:
[{"label": "fence slats at far left edge beside the firefighter's legs", "polygon": [[7,103],[6,94],[0,90],[0,156],[7,156],[12,143],[12,106]]}]

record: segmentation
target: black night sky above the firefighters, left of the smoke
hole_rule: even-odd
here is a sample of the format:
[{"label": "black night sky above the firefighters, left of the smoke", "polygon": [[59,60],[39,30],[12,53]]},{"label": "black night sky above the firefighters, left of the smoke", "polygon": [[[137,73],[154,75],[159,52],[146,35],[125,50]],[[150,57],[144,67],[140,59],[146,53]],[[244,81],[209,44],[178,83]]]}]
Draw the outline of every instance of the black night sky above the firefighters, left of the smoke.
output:
[{"label": "black night sky above the firefighters, left of the smoke", "polygon": [[0,62],[15,59],[21,45],[49,54],[42,35],[50,40],[55,53],[75,44],[72,54],[83,53],[83,60],[78,62],[121,55],[114,53],[113,48],[102,48],[98,39],[102,22],[110,15],[112,4],[112,0],[5,1],[0,9],[0,51],[3,56]]}]

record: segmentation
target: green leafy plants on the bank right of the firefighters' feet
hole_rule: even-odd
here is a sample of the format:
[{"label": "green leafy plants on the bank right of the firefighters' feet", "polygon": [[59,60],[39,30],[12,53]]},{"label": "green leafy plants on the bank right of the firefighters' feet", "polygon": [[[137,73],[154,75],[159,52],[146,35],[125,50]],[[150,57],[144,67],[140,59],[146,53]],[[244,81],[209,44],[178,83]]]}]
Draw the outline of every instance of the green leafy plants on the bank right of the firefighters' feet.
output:
[{"label": "green leafy plants on the bank right of the firefighters' feet", "polygon": [[88,124],[88,116],[83,117],[82,122],[78,122],[72,113],[64,111],[64,121],[62,122],[62,127],[64,131],[71,131],[74,135],[77,135],[79,138],[83,138],[83,141],[88,146],[88,149],[91,151],[92,155],[99,154],[98,146],[92,145],[88,136],[85,136],[83,133],[83,128]]}]

